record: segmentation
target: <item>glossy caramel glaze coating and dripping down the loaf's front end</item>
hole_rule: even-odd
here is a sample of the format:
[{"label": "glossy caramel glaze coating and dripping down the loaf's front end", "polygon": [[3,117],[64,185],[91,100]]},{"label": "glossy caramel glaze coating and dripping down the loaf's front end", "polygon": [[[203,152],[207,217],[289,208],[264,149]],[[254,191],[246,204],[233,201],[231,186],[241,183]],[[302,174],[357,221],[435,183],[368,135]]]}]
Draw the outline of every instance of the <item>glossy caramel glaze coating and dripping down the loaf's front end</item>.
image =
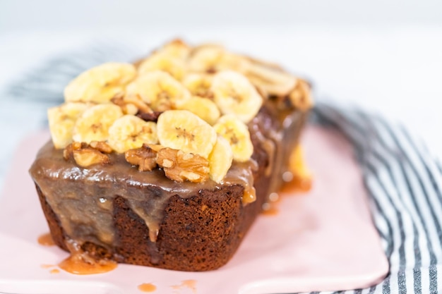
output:
[{"label": "glossy caramel glaze coating and dripping down the loaf's front end", "polygon": [[[118,245],[112,219],[112,203],[117,196],[124,197],[133,212],[145,221],[150,240],[155,242],[172,196],[189,198],[200,190],[217,190],[222,185],[212,180],[178,183],[166,178],[160,169],[140,172],[126,162],[123,154],[109,154],[112,164],[81,169],[65,161],[62,153],[48,142],[37,155],[30,173],[68,238],[79,244],[91,242],[107,248]],[[225,177],[227,185],[244,186],[247,193],[244,199],[248,202],[255,197],[255,169],[254,161],[234,163]]]}]

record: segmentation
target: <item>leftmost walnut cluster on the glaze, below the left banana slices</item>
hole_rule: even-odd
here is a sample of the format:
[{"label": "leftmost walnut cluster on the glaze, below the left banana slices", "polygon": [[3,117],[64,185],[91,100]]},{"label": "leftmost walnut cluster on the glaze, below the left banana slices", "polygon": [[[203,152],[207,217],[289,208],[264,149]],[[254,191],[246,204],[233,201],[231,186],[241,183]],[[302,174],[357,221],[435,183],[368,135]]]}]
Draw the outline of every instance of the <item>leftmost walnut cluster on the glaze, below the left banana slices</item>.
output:
[{"label": "leftmost walnut cluster on the glaze, below the left banana slices", "polygon": [[[91,142],[92,145],[93,142]],[[94,148],[87,143],[73,142],[66,146],[63,151],[63,157],[65,160],[73,159],[78,166],[88,167],[94,164],[109,164],[110,158],[107,154],[103,154],[101,149],[107,149],[109,147],[104,142],[96,142],[93,144],[96,145],[97,148]],[[106,147],[107,146],[107,147]],[[110,148],[110,147],[109,147]],[[112,149],[110,149],[112,152]],[[104,152],[104,153],[110,153]]]}]

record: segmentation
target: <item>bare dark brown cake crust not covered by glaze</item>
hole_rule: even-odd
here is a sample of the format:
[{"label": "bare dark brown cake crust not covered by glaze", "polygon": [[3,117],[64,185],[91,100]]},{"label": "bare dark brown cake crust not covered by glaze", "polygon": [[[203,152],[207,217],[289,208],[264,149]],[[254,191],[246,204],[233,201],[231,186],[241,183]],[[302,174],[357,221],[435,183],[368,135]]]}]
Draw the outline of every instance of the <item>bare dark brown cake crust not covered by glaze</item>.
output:
[{"label": "bare dark brown cake crust not covered by glaze", "polygon": [[[289,134],[290,140],[293,137],[297,140],[305,118],[305,113],[299,114],[295,131]],[[275,125],[263,123],[263,127],[274,129]],[[244,187],[240,185],[223,186],[215,191],[201,190],[198,195],[187,199],[175,195],[167,204],[160,233],[153,243],[143,220],[130,209],[123,197],[117,196],[113,218],[119,246],[107,250],[100,245],[85,243],[82,249],[97,258],[179,271],[208,271],[226,264],[261,212],[270,180],[274,180],[264,173],[268,155],[253,134],[251,138],[255,147],[253,159],[259,166],[254,173],[256,202],[245,206],[241,203]],[[67,250],[66,236],[59,220],[38,186],[37,192],[54,242]],[[146,190],[148,193],[155,193],[155,190]]]}]

